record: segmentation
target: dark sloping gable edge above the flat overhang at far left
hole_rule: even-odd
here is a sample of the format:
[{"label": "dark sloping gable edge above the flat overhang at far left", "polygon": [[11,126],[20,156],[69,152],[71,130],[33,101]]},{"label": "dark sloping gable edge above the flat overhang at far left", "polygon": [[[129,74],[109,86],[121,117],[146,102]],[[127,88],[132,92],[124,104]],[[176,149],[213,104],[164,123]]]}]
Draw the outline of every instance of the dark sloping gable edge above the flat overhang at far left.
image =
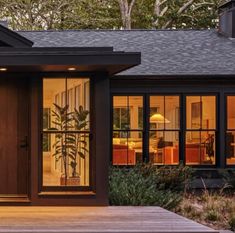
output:
[{"label": "dark sloping gable edge above the flat overhang at far left", "polygon": [[0,24],[0,47],[32,47],[33,42]]}]

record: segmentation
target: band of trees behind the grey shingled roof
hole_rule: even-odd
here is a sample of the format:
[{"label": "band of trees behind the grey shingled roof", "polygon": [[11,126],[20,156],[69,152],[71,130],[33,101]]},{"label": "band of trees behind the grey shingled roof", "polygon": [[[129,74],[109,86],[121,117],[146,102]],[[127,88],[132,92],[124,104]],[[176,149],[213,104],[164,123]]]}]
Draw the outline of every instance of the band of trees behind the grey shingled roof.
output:
[{"label": "band of trees behind the grey shingled roof", "polygon": [[224,0],[0,0],[15,30],[214,28]]}]

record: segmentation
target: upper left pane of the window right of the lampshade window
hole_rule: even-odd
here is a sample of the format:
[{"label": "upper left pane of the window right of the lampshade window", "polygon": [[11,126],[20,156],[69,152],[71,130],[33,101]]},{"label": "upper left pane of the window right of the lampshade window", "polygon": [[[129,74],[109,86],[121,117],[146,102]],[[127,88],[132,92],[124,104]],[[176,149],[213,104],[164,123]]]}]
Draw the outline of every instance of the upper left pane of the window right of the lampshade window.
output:
[{"label": "upper left pane of the window right of the lampshade window", "polygon": [[201,109],[202,103],[200,96],[186,97],[186,126],[187,129],[201,128]]}]

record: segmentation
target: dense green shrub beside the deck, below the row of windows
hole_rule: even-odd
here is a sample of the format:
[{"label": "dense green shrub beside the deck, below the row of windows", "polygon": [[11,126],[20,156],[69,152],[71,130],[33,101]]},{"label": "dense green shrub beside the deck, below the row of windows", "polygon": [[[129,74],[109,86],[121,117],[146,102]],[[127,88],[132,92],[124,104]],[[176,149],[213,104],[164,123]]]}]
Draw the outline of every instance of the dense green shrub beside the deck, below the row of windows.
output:
[{"label": "dense green shrub beside the deck, below the row of windows", "polygon": [[[173,178],[174,168],[167,169]],[[175,168],[176,170],[178,168]],[[160,170],[160,171],[159,171]],[[148,206],[156,205],[166,209],[176,208],[182,200],[182,182],[173,188],[176,179],[163,178],[164,168],[158,169],[149,164],[138,164],[132,168],[110,168],[109,200],[111,205]],[[177,173],[177,172],[176,172]],[[165,173],[166,174],[166,173]],[[179,184],[181,183],[181,184]]]}]

